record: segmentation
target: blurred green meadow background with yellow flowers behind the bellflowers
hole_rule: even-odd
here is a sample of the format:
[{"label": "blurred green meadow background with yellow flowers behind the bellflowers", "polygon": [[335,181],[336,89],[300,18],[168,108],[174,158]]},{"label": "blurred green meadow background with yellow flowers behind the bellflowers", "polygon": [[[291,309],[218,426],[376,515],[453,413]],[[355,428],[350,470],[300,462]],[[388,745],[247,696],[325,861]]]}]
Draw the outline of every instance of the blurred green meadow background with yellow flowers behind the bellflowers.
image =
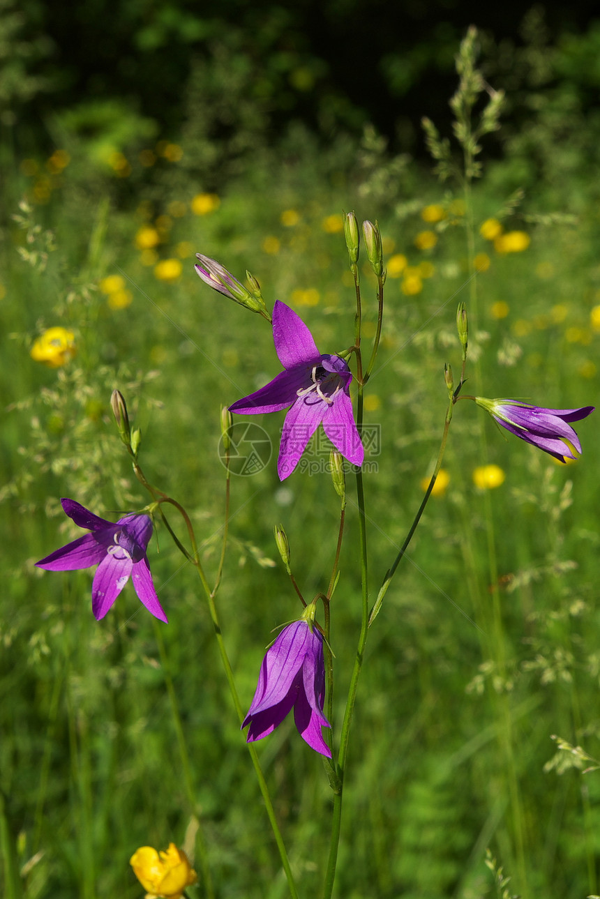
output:
[{"label": "blurred green meadow background with yellow flowers behind the bellflowers", "polygon": [[[389,6],[319,4],[321,29],[308,3],[228,2],[217,15],[140,2],[109,17],[99,2],[68,19],[31,0],[0,6],[7,899],[140,896],[130,855],[169,841],[193,850],[193,814],[212,886],[201,877],[190,896],[286,895],[199,584],[166,531],[150,550],[170,619],[164,653],[130,585],[97,623],[90,572],[34,567],[79,536],[61,496],[106,517],[147,502],[112,423],[119,388],[148,478],[185,504],[216,571],[219,408],[279,365],[268,325],[202,285],[194,253],[240,279],[252,271],[265,298],[289,303],[335,352],[353,339],[342,212],[378,219],[388,281],[366,401],[367,422],[381,425],[366,476],[373,597],[434,465],[443,363],[460,369],[459,301],[470,312],[467,392],[597,403],[600,22],[585,4],[558,18],[543,6],[511,16],[508,5],[488,19],[432,4],[433,26],[408,5],[393,34]],[[466,206],[460,183],[435,174],[420,117],[452,138],[454,57],[470,22],[506,106]],[[460,161],[453,138],[452,154]],[[362,277],[368,338],[375,288],[366,267]],[[76,348],[54,368],[31,357],[50,327]],[[583,458],[561,466],[483,415],[456,406],[448,483],[367,645],[336,885],[348,899],[598,891],[600,771],[584,774],[594,763],[552,735],[600,758],[600,424],[579,423]],[[261,424],[276,447],[282,416]],[[487,465],[482,487],[474,472]],[[327,474],[281,485],[273,458],[234,478],[231,508],[219,610],[249,704],[270,631],[296,614],[273,525],[285,526],[311,596],[327,584],[338,504]],[[360,625],[356,537],[351,504],[333,619],[338,716]],[[289,721],[260,752],[309,895],[327,859],[324,770]],[[486,866],[488,849],[508,885]]]}]

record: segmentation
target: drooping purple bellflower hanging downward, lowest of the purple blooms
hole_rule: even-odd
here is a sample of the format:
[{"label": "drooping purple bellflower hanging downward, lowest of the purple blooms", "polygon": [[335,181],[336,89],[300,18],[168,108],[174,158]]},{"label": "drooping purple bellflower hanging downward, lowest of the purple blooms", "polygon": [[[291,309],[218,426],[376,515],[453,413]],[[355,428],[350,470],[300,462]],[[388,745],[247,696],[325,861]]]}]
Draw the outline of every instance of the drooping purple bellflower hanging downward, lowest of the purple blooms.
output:
[{"label": "drooping purple bellflower hanging downward, lowest of the purple blooms", "polygon": [[302,739],[330,759],[331,751],[321,735],[321,727],[331,726],[323,715],[324,700],[323,637],[306,619],[294,621],[264,656],[255,698],[242,724],[250,725],[247,742],[273,733],[293,707]]}]

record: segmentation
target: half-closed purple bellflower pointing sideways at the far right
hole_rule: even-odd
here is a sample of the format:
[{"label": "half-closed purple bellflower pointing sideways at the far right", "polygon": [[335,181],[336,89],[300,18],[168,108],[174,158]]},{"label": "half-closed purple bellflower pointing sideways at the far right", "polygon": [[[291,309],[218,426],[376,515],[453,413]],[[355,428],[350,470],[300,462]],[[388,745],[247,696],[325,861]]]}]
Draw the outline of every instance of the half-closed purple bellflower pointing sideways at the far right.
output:
[{"label": "half-closed purple bellflower pointing sideways at the far right", "polygon": [[[488,410],[494,420],[526,443],[543,449],[560,462],[578,458],[581,443],[569,422],[578,422],[594,412],[593,405],[581,409],[544,409],[539,405],[519,403],[515,399],[485,399],[476,396],[475,402]],[[576,455],[577,453],[577,455]]]}]

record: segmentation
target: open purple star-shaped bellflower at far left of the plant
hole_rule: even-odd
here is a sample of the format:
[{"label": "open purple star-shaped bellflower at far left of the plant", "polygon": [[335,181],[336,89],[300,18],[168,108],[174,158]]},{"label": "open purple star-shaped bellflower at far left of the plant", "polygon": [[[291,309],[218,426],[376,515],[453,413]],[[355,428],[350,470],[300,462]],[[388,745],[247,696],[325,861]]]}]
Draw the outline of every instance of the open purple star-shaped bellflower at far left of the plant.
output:
[{"label": "open purple star-shaped bellflower at far left of the plant", "polygon": [[125,515],[119,521],[105,521],[75,500],[61,500],[69,518],[80,528],[91,530],[50,553],[38,568],[47,571],[76,571],[98,565],[92,584],[92,611],[99,621],[103,619],[113,602],[131,580],[139,599],[155,618],[166,621],[152,583],[152,575],[146,557],[148,541],[152,536],[152,521],[148,515]]}]

